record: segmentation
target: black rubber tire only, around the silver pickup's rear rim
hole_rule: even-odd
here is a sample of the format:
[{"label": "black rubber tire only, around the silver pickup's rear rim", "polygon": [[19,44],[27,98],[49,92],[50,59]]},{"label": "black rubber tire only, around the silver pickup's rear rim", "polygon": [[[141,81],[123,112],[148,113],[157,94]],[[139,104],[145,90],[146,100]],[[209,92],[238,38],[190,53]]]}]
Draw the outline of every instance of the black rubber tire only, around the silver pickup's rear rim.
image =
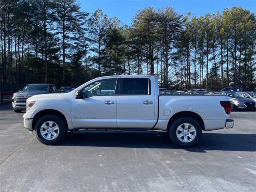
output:
[{"label": "black rubber tire only, around the silver pickup's rear rim", "polygon": [[[182,124],[185,124],[185,123],[191,124],[192,126],[194,126],[194,128],[196,130],[196,133],[193,132],[193,134],[195,134],[193,139],[190,138],[189,136],[187,136],[187,138],[192,139],[190,142],[183,142],[183,141],[181,141],[178,138],[177,134],[176,134],[176,131],[177,131],[178,127],[180,125],[182,125]],[[189,126],[188,129],[190,130],[191,128],[192,127]],[[181,132],[181,131],[179,131],[179,132]],[[171,126],[170,126],[170,128],[168,130],[168,134],[169,134],[170,139],[174,143],[174,145],[176,145],[178,147],[182,147],[182,148],[189,148],[189,147],[195,146],[200,141],[200,139],[202,137],[202,127],[200,126],[198,121],[196,121],[194,118],[191,118],[191,117],[180,117],[180,118],[178,118],[177,120],[175,120],[171,124]],[[182,136],[182,137],[184,139],[184,136]],[[181,137],[181,139],[182,139],[182,137]],[[190,140],[190,139],[188,139],[188,140]]]}]

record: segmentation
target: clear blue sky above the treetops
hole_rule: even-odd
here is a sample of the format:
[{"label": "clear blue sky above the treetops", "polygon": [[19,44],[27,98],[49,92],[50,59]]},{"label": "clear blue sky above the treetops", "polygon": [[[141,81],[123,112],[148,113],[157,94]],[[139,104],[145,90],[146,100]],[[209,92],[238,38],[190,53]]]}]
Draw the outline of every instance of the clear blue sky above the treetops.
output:
[{"label": "clear blue sky above the treetops", "polygon": [[154,9],[172,6],[180,14],[191,12],[195,16],[206,13],[220,13],[224,8],[241,6],[244,9],[256,12],[256,0],[78,0],[82,10],[93,13],[100,8],[108,17],[117,17],[123,24],[130,25],[132,17],[138,9],[153,7]]}]

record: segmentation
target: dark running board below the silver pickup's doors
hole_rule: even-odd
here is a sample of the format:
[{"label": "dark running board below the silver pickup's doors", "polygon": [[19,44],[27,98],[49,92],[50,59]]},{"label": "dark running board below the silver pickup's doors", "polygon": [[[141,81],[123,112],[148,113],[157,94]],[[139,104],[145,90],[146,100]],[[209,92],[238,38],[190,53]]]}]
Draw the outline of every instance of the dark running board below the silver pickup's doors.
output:
[{"label": "dark running board below the silver pickup's doors", "polygon": [[156,134],[157,130],[74,130],[73,134],[86,134],[86,133],[139,133],[139,134]]}]

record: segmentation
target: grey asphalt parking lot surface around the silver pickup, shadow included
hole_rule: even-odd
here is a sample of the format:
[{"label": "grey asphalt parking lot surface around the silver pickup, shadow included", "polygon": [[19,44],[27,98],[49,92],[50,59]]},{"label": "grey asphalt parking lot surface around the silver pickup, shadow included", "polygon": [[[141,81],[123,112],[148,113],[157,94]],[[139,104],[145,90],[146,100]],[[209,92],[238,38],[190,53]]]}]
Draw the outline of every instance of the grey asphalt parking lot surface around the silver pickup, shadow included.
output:
[{"label": "grey asphalt parking lot surface around the silver pickup, shadow included", "polygon": [[1,192],[251,192],[256,189],[256,111],[234,111],[232,129],[204,132],[194,148],[165,132],[69,134],[41,144],[22,115],[0,104]]}]

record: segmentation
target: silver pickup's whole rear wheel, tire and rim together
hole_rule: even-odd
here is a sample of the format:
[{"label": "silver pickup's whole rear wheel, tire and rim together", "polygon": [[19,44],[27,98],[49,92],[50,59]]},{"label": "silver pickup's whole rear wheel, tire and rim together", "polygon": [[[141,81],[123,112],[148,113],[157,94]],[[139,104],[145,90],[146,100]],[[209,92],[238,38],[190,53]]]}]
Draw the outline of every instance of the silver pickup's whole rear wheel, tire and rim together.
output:
[{"label": "silver pickup's whole rear wheel, tire and rim together", "polygon": [[181,117],[172,123],[168,134],[176,146],[184,148],[192,147],[202,137],[202,127],[193,118]]}]

